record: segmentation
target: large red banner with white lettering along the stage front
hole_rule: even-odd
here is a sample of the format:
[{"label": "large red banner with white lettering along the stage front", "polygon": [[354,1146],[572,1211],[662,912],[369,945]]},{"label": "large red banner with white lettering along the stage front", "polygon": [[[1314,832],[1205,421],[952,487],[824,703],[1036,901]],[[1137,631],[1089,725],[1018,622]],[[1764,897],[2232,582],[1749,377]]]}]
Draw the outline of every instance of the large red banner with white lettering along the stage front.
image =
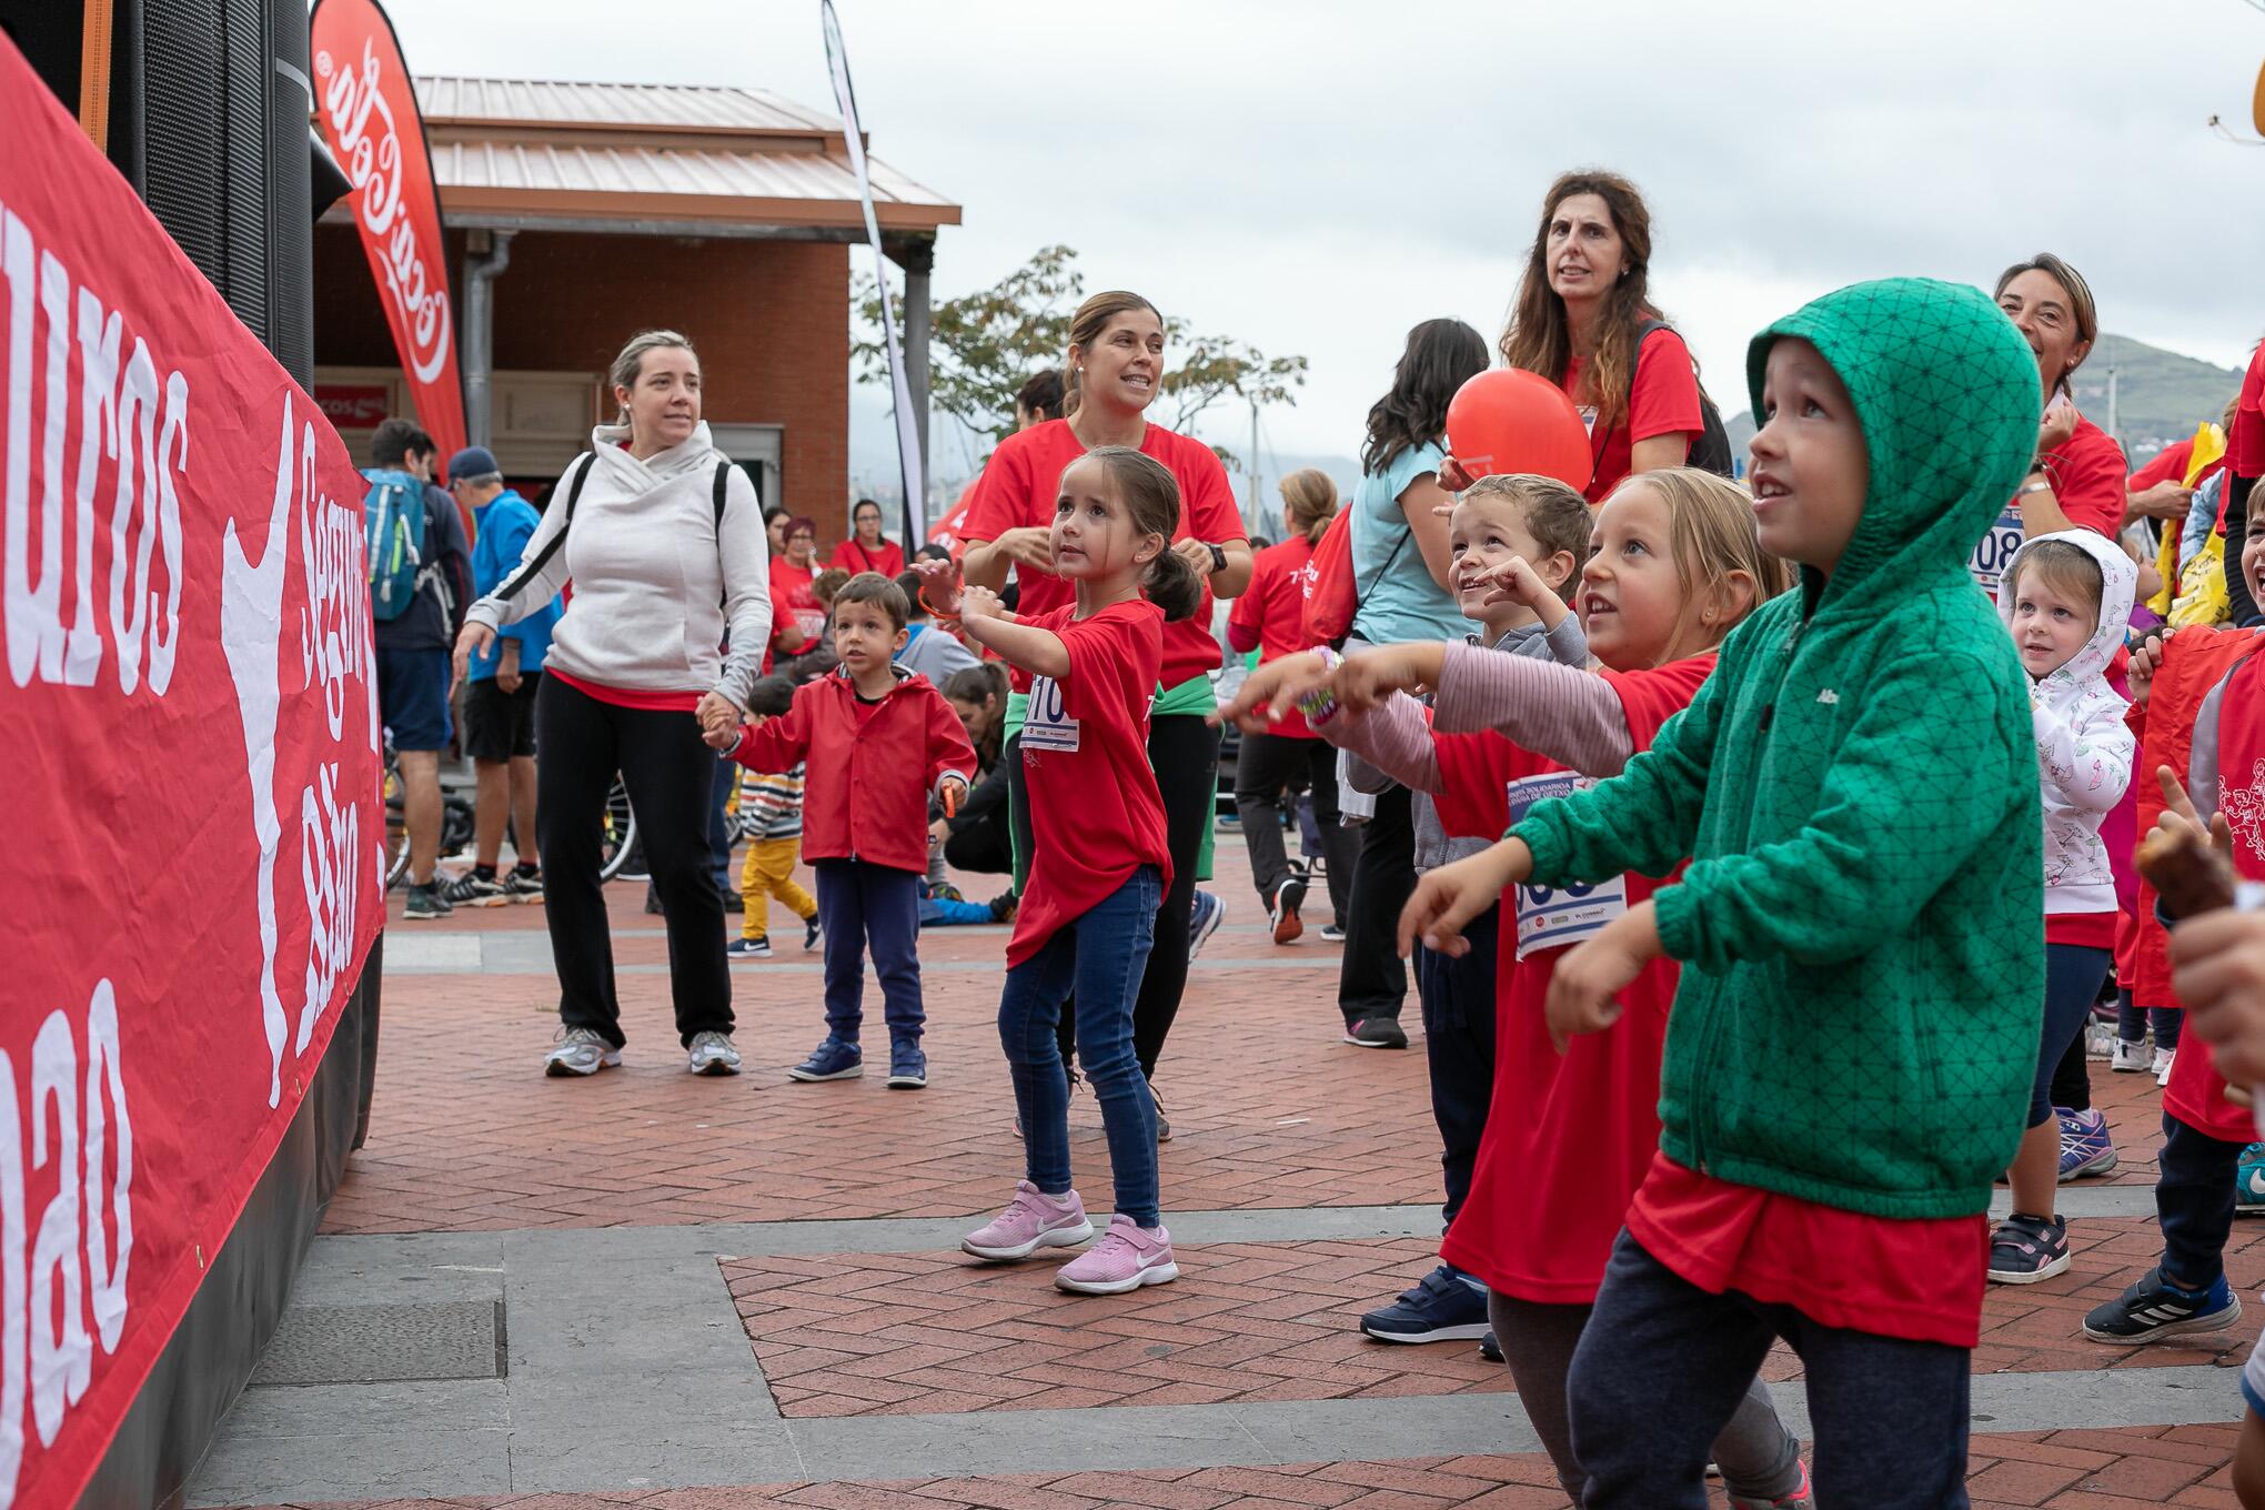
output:
[{"label": "large red banner with white lettering along the stage front", "polygon": [[68,1505],[383,921],[362,484],[0,38],[0,1505]]}]

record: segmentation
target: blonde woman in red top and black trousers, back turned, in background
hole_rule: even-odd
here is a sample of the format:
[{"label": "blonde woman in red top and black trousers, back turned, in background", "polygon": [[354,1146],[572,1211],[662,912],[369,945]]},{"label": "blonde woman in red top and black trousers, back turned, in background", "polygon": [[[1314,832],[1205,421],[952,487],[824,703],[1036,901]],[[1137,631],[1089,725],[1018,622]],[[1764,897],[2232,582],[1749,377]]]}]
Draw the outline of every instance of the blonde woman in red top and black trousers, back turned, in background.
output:
[{"label": "blonde woman in red top and black trousers, back turned, in background", "polygon": [[[1234,600],[1228,616],[1228,645],[1237,652],[1259,652],[1259,663],[1307,650],[1302,620],[1305,593],[1314,577],[1314,546],[1336,518],[1336,482],[1318,466],[1305,466],[1282,478],[1280,546],[1268,546],[1250,568],[1250,586]],[[1352,831],[1336,822],[1336,749],[1314,738],[1305,718],[1289,713],[1266,733],[1246,733],[1234,756],[1234,806],[1243,815],[1243,847],[1250,851],[1250,878],[1259,887],[1259,906],[1273,917],[1275,944],[1289,944],[1305,933],[1298,908],[1305,906],[1305,876],[1289,867],[1282,844],[1282,797],[1298,772],[1314,792],[1314,826],[1330,878],[1330,908],[1336,926],[1345,926],[1345,890],[1352,885]]]}]

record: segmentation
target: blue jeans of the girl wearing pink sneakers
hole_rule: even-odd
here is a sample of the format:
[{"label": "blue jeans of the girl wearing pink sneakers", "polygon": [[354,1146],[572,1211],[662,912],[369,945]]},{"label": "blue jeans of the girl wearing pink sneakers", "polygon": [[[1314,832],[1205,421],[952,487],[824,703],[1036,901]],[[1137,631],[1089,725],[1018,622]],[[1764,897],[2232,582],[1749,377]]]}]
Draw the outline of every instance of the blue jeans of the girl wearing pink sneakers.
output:
[{"label": "blue jeans of the girl wearing pink sneakers", "polygon": [[1055,1026],[1062,1001],[1076,992],[1078,1062],[1101,1100],[1117,1211],[1142,1227],[1164,1218],[1155,1189],[1155,1100],[1132,1053],[1132,998],[1148,967],[1162,896],[1162,872],[1142,865],[1010,969],[999,996],[999,1044],[1015,1073],[1024,1177],[1046,1195],[1071,1189],[1069,1075]]}]

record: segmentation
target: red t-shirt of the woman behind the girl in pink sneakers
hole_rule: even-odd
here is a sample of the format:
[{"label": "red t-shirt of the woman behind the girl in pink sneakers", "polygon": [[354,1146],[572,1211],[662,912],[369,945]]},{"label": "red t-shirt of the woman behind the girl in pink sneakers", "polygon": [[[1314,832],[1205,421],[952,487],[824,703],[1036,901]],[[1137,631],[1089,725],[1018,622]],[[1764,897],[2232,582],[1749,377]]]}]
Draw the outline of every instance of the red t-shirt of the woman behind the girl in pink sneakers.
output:
[{"label": "red t-shirt of the woman behind the girl in pink sneakers", "polygon": [[[1171,469],[1180,482],[1180,525],[1171,539],[1198,539],[1214,546],[1243,539],[1243,516],[1234,507],[1228,469],[1219,464],[1210,446],[1164,426],[1148,426],[1139,448]],[[1024,525],[1051,525],[1053,505],[1062,496],[1062,471],[1080,455],[1085,455],[1085,441],[1078,439],[1067,419],[1049,419],[1006,437],[983,464],[983,475],[976,478],[976,496],[960,534],[969,541],[994,541]],[[1022,598],[1015,604],[1015,614],[1022,618],[1051,614],[1076,600],[1069,580],[1049,570],[1015,566],[1015,580],[1022,584]],[[1196,616],[1164,625],[1162,686],[1169,690],[1216,668],[1219,641],[1212,638],[1212,589],[1205,580]],[[1031,690],[1031,677],[1022,670],[1012,672],[1012,684],[1017,693]]]}]

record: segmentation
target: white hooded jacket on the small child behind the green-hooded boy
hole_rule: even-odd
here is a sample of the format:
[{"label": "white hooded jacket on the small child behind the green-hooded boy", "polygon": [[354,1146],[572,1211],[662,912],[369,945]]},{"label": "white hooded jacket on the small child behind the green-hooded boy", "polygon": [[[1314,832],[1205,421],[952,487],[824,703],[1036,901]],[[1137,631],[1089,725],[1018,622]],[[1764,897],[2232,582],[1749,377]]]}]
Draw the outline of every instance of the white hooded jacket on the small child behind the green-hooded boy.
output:
[{"label": "white hooded jacket on the small child behind the green-hooded boy", "polygon": [[[2106,684],[2109,661],[2131,623],[2131,591],[2138,566],[2122,548],[2091,530],[2038,534],[2007,561],[2014,564],[2043,541],[2066,541],[2100,564],[2100,623],[2084,647],[2059,670],[2029,684],[2029,711],[2036,720],[2036,765],[2045,781],[2045,915],[2113,912],[2116,874],[2109,847],[2100,842],[2100,822],[2131,786],[2131,758],[2138,740],[2125,727],[2125,704]],[[2014,625],[2016,593],[1998,593],[1998,616]]]}]

